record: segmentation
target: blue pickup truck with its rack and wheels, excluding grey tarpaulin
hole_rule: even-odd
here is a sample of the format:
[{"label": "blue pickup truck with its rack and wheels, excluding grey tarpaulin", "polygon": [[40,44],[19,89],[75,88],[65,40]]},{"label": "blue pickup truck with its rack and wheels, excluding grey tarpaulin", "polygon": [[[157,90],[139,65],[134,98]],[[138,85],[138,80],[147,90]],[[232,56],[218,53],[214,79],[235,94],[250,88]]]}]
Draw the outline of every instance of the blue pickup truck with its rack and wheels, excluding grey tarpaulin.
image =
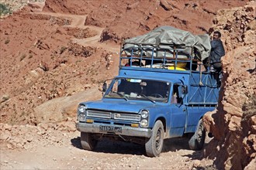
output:
[{"label": "blue pickup truck with its rack and wheels, excluding grey tarpaulin", "polygon": [[97,141],[112,138],[144,145],[155,157],[164,139],[189,136],[189,147],[201,149],[206,137],[202,116],[216,107],[220,85],[215,73],[183,54],[175,46],[123,44],[119,75],[103,84],[102,99],[78,105],[82,148],[93,150]]}]

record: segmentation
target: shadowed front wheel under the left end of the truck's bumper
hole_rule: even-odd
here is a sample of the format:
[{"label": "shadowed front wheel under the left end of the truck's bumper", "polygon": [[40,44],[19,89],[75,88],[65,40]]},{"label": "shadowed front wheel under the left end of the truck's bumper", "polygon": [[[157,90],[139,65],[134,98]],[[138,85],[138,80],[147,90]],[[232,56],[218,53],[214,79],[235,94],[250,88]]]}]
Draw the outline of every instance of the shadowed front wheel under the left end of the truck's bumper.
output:
[{"label": "shadowed front wheel under the left end of the truck's bumper", "polygon": [[92,151],[97,143],[98,141],[92,138],[92,134],[81,132],[81,148]]}]

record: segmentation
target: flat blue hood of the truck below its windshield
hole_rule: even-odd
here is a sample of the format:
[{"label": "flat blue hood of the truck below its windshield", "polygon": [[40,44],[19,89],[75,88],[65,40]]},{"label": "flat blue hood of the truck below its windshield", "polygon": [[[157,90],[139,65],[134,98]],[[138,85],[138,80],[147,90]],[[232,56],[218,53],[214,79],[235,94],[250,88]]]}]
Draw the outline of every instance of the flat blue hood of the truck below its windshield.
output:
[{"label": "flat blue hood of the truck below its windshield", "polygon": [[112,100],[112,99],[104,99],[97,101],[88,101],[83,103],[87,106],[88,109],[96,109],[96,110],[109,110],[122,112],[131,112],[138,113],[141,109],[150,109],[152,107],[157,107],[162,104],[153,104],[150,101],[136,101],[136,100]]}]

